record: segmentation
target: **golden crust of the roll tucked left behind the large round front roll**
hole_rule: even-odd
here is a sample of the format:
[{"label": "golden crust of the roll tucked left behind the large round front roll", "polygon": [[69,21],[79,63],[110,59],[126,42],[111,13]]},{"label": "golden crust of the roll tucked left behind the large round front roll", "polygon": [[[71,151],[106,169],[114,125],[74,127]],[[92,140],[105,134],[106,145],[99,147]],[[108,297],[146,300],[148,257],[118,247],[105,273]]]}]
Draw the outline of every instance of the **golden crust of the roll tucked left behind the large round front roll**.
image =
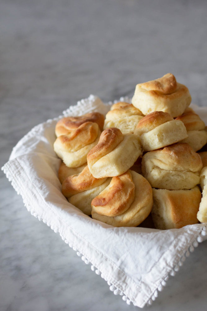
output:
[{"label": "golden crust of the roll tucked left behind the large round front roll", "polygon": [[64,180],[62,193],[65,197],[71,197],[76,193],[97,187],[105,181],[106,178],[94,178],[88,169],[88,165],[86,165],[80,174],[71,175]]}]

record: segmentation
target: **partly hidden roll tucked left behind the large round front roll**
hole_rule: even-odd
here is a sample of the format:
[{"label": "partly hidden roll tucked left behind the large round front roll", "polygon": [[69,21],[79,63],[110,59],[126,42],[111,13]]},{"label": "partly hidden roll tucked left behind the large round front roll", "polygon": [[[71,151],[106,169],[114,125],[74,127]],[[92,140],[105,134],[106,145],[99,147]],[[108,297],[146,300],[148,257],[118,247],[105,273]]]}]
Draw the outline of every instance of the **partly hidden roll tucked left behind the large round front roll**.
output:
[{"label": "partly hidden roll tucked left behind the large round front roll", "polygon": [[79,174],[67,177],[62,183],[62,193],[68,201],[86,215],[91,215],[91,201],[110,183],[111,178],[96,179],[86,165]]}]

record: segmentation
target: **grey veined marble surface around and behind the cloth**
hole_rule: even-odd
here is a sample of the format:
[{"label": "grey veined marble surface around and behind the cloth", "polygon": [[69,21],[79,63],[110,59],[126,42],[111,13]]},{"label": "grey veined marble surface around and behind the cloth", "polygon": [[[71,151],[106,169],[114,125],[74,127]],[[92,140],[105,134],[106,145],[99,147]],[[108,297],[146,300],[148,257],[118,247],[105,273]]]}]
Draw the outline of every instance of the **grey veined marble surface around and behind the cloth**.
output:
[{"label": "grey veined marble surface around and behind the cloth", "polygon": [[[77,100],[133,95],[172,72],[206,106],[207,2],[0,1],[1,166],[33,126]],[[43,222],[1,172],[0,310],[137,310]],[[207,241],[144,310],[205,310]]]}]

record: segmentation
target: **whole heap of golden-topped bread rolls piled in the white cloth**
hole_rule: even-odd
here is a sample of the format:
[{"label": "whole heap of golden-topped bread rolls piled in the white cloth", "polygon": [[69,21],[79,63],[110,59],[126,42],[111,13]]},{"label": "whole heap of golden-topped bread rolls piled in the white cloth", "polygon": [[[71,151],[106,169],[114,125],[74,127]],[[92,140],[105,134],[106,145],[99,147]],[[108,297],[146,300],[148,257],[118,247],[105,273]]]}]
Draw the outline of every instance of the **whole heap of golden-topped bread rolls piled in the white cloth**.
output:
[{"label": "whole heap of golden-topped bread rolls piled in the white cloth", "polygon": [[168,73],[137,84],[132,103],[113,104],[106,116],[59,120],[63,195],[115,227],[207,222],[207,131],[190,103],[188,88]]}]

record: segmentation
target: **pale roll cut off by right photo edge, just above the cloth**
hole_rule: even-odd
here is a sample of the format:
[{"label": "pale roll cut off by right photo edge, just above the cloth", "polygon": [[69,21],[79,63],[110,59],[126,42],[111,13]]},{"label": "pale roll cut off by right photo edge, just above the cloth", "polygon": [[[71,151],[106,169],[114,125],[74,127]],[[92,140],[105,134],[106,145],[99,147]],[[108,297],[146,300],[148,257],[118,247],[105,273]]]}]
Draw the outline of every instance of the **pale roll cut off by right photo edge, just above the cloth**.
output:
[{"label": "pale roll cut off by right photo edge, just above the cloth", "polygon": [[200,186],[202,189],[202,199],[197,218],[200,222],[207,222],[207,166],[200,172]]}]

